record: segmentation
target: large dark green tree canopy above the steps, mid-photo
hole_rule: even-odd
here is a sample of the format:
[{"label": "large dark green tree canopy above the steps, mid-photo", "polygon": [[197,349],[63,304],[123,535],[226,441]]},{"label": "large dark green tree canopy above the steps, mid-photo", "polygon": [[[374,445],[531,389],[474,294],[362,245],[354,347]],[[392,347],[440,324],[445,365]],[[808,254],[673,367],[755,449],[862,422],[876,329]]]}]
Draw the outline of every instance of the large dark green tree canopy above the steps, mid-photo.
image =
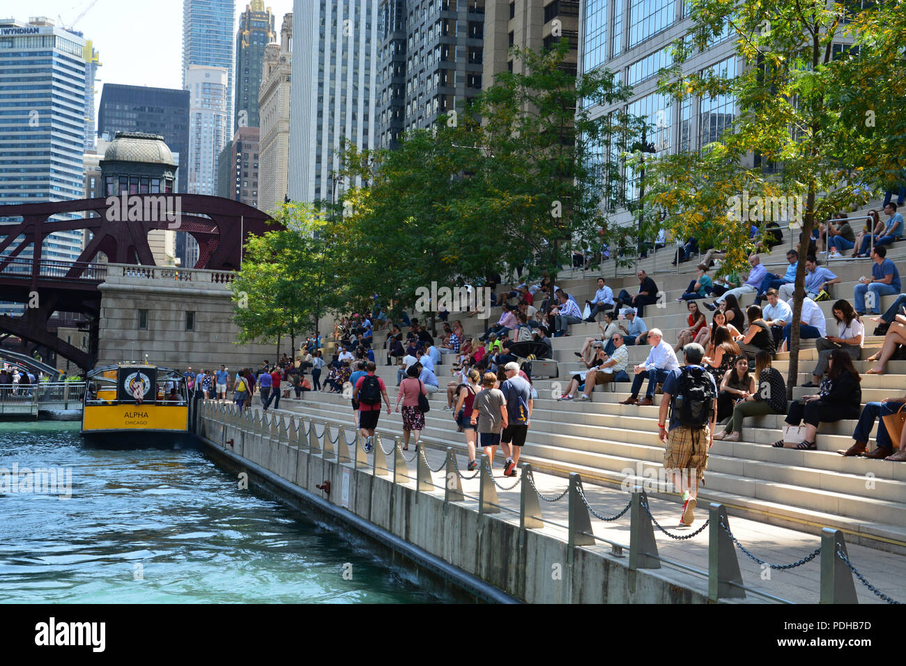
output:
[{"label": "large dark green tree canopy above the steps, mid-photo", "polygon": [[352,294],[409,305],[431,282],[475,284],[505,261],[540,273],[563,261],[567,239],[598,246],[631,233],[608,224],[620,165],[598,157],[626,150],[640,125],[590,115],[630,91],[611,72],[576,79],[567,51],[516,52],[525,73],[499,74],[398,150],[346,147],[341,176],[361,182],[343,193],[337,226]]}]

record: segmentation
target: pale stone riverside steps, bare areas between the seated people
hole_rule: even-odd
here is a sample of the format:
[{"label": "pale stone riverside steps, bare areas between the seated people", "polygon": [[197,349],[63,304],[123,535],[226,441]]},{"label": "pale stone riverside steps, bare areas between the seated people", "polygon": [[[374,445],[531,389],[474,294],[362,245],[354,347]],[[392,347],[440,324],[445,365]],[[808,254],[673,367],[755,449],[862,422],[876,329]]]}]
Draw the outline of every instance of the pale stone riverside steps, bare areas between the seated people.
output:
[{"label": "pale stone riverside steps, bare areas between the seated people", "polygon": [[[860,211],[851,217],[862,214]],[[769,272],[781,275],[785,272],[788,231],[785,231],[785,241],[783,246],[775,248],[773,255],[762,255]],[[906,241],[888,249],[888,256],[906,279]],[[668,343],[675,343],[677,333],[687,325],[686,304],[677,303],[675,299],[689,284],[696,264],[690,261],[677,269],[670,266],[672,256],[673,248],[668,246],[656,256],[638,263],[638,267],[649,271],[666,294],[662,306],[645,308],[643,318],[649,329],[660,328]],[[852,301],[853,287],[859,276],[871,273],[871,261],[834,260],[828,266],[843,280],[843,284],[834,285],[832,300],[819,304],[827,319],[828,333],[834,334],[836,324],[831,314],[834,300],[846,298]],[[556,284],[573,294],[579,304],[593,296],[598,275],[604,275],[614,294],[622,288],[630,293],[637,290],[635,267],[618,272],[616,277],[613,273],[612,262],[605,265],[602,272],[593,270],[583,274],[564,270],[557,276]],[[895,296],[882,298],[882,312],[894,299]],[[752,300],[752,295],[741,299],[743,310]],[[459,314],[451,314],[450,320],[459,318],[467,333],[476,334],[496,323],[499,314],[500,308],[494,308],[487,320]],[[710,321],[710,314],[707,315]],[[876,323],[867,317],[863,320],[867,334],[864,359],[880,347],[882,338],[871,334]],[[664,450],[657,437],[660,395],[655,396],[655,404],[651,407],[621,405],[619,402],[629,396],[630,384],[618,383],[603,390],[601,387],[596,389],[592,401],[554,400],[564,391],[570,376],[584,369],[574,352],[581,349],[586,336],[599,334],[599,329],[597,324],[580,323],[574,324],[570,333],[568,337],[553,341],[558,376],[534,381],[538,398],[535,399],[523,458],[535,468],[555,475],[579,472],[586,482],[630,487],[646,478],[658,478],[662,475]],[[382,333],[376,335],[375,357],[379,362],[378,372],[388,386],[391,403],[394,403],[396,368],[383,365],[386,357],[381,349],[384,337]],[[649,347],[631,346],[628,351],[630,362],[634,364],[645,359]],[[775,362],[785,378],[789,369],[788,356],[788,353],[778,354]],[[815,358],[814,341],[802,341],[796,383],[810,381]],[[452,412],[443,409],[447,402],[445,387],[450,379],[450,360],[444,356],[437,369],[440,391],[430,398],[431,411],[426,415],[422,439],[432,447],[465,449],[465,438],[457,432]],[[872,365],[872,362],[855,362],[859,372],[865,372]],[[863,402],[901,396],[906,392],[906,362],[890,362],[885,375],[863,374],[862,391]],[[798,397],[814,392],[814,389],[796,386],[793,394]],[[303,400],[283,401],[281,406],[314,420],[347,426],[354,423],[350,402],[342,395],[304,393]],[[780,438],[783,420],[783,415],[747,419],[743,441],[715,441],[699,502],[719,501],[728,506],[731,514],[812,534],[819,533],[824,526],[832,526],[843,530],[846,538],[854,543],[906,553],[906,465],[843,458],[836,453],[837,449],[846,449],[853,443],[854,420],[823,424],[816,440],[817,450],[773,449],[770,443]],[[388,416],[383,413],[378,430],[384,436],[400,435],[400,414],[394,412]],[[497,465],[500,464],[502,459],[497,460]]]}]

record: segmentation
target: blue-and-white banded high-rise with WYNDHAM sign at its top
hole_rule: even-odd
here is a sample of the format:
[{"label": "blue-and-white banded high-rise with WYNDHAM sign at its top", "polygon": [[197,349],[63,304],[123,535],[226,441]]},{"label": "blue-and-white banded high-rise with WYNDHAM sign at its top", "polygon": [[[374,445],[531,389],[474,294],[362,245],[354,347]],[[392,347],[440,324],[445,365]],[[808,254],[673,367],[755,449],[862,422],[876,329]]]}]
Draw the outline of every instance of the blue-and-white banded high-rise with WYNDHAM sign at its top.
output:
[{"label": "blue-and-white banded high-rise with WYNDHAM sign at its top", "polygon": [[[46,17],[0,20],[0,204],[83,197],[85,52],[82,34]],[[82,216],[51,219],[74,217]],[[81,251],[81,231],[60,231],[48,236],[42,256],[72,261]],[[19,256],[32,256],[31,248]]]}]

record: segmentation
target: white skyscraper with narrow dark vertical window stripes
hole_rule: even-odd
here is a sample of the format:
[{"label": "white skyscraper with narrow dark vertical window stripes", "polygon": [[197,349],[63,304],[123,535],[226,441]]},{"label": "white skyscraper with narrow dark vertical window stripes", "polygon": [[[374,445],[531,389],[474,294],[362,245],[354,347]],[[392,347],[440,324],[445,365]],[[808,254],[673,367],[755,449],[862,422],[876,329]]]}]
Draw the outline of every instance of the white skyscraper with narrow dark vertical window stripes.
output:
[{"label": "white skyscraper with narrow dark vertical window stripes", "polygon": [[293,14],[289,196],[330,199],[335,151],[374,147],[378,0],[295,0]]}]

